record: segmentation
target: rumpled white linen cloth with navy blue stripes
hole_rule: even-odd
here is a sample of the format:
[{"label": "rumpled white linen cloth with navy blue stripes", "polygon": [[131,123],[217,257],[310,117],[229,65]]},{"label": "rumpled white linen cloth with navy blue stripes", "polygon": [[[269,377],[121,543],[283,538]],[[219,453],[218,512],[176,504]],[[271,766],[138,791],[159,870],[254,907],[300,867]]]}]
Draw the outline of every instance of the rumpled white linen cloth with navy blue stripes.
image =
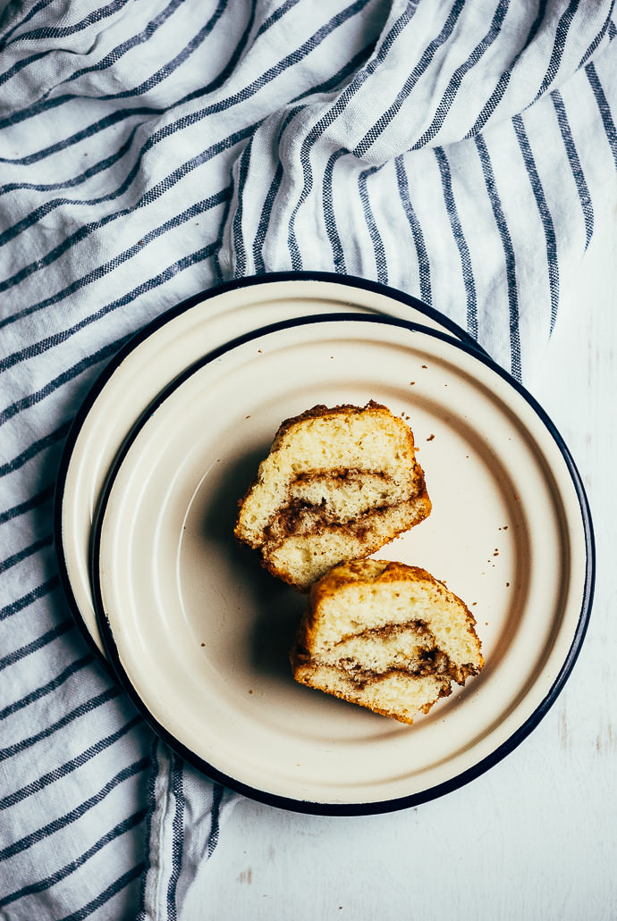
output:
[{"label": "rumpled white linen cloth with navy blue stripes", "polygon": [[100,4],[0,2],[6,919],[189,917],[233,821],[61,588],[54,478],[105,363],[221,280],[320,270],[420,297],[525,380],[615,200],[611,3]]}]

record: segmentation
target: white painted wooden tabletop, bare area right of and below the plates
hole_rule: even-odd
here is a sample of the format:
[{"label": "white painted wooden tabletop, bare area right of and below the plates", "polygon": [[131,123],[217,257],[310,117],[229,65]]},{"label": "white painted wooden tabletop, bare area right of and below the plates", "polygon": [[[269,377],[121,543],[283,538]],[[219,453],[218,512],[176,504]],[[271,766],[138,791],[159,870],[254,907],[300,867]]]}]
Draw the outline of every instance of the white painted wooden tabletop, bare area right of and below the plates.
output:
[{"label": "white painted wooden tabletop, bare area right of and below the plates", "polygon": [[242,800],[187,921],[617,919],[616,263],[617,184],[526,381],[573,453],[596,534],[591,622],[564,692],[503,762],[418,808],[330,818]]}]

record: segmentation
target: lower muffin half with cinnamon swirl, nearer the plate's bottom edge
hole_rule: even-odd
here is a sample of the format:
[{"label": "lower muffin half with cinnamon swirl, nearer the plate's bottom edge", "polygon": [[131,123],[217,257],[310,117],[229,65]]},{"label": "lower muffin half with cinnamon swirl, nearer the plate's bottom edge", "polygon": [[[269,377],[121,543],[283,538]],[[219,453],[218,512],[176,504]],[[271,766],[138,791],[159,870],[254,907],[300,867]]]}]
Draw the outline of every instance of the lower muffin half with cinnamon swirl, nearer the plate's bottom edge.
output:
[{"label": "lower muffin half with cinnamon swirl, nearer the plate's bottom edge", "polygon": [[482,665],[463,601],[424,569],[371,559],[314,584],[291,651],[297,682],[403,723]]}]

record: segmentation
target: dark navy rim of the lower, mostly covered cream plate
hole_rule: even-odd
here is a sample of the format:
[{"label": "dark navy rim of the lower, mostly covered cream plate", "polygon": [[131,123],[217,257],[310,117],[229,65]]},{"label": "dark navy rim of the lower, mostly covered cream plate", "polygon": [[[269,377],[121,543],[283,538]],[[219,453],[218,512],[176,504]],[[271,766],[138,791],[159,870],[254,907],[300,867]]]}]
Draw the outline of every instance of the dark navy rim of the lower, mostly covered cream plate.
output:
[{"label": "dark navy rim of the lower, mostly covered cream plate", "polygon": [[[370,291],[375,295],[389,297],[398,303],[408,306],[409,309],[417,310],[434,322],[441,324],[452,334],[452,336],[461,342],[465,342],[469,345],[470,348],[477,350],[482,355],[488,355],[485,349],[483,349],[482,346],[476,342],[476,340],[469,334],[469,332],[464,330],[455,321],[450,320],[449,317],[445,316],[445,314],[441,313],[438,309],[435,309],[421,301],[418,297],[414,297],[413,295],[410,295],[407,292],[395,287],[384,285],[381,282],[375,282],[357,275],[340,275],[336,272],[273,272],[260,275],[248,275],[243,278],[236,278],[231,279],[230,281],[221,282],[218,285],[206,288],[194,295],[191,295],[190,297],[186,297],[172,307],[165,309],[162,313],[160,313],[160,315],[154,317],[152,320],[148,321],[140,330],[137,330],[135,333],[133,333],[125,342],[125,344],[120,347],[118,352],[101,370],[100,374],[89,388],[89,391],[87,392],[84,400],[79,404],[77,408],[77,414],[74,416],[73,422],[71,423],[68,434],[66,436],[65,445],[58,464],[53,489],[53,545],[59,570],[60,582],[64,589],[65,598],[68,602],[68,606],[73,616],[73,620],[77,625],[79,633],[86,640],[90,651],[94,652],[97,659],[99,659],[101,664],[108,668],[108,670],[109,662],[101,653],[101,649],[97,645],[94,636],[90,633],[89,626],[86,623],[83,612],[81,612],[79,608],[77,597],[71,581],[69,566],[67,562],[67,554],[65,553],[65,539],[63,529],[65,486],[79,434],[85,426],[86,420],[89,418],[90,411],[92,410],[95,402],[101,395],[102,391],[105,390],[107,385],[113,379],[114,373],[122,364],[124,364],[125,360],[131,356],[136,348],[140,344],[146,342],[146,340],[148,340],[148,338],[153,333],[160,331],[163,327],[175,320],[177,317],[187,313],[189,310],[195,309],[200,304],[209,301],[214,297],[221,297],[227,293],[243,290],[245,288],[259,287],[264,285],[276,285],[279,283],[288,282],[317,282],[330,285],[347,286],[350,288],[350,290],[360,288],[363,291]],[[366,315],[370,316],[370,314]],[[386,317],[387,315],[384,314],[384,316]],[[164,385],[164,387],[169,386],[170,383],[171,382],[168,382]],[[159,394],[157,394],[157,396],[158,395]],[[144,412],[148,413],[148,410],[149,406]],[[135,426],[139,425],[140,416],[134,420],[133,427],[135,428]],[[116,456],[113,464],[115,465],[117,462],[118,457]],[[112,473],[113,468],[108,473],[108,479]],[[95,522],[93,522],[93,526],[94,523]],[[91,552],[92,538],[90,538],[90,554]]]}]

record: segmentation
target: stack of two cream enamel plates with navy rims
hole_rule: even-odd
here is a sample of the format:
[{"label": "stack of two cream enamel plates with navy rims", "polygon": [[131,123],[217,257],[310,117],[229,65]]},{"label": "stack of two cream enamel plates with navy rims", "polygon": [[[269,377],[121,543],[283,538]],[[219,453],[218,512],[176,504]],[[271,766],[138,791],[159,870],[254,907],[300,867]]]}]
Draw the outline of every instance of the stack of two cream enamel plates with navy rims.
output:
[{"label": "stack of two cream enamel plates with navy rims", "polygon": [[[433,513],[383,548],[474,613],[485,666],[412,727],[291,679],[304,599],[232,530],[280,422],[369,400],[409,421]],[[56,533],[89,642],[207,775],[292,810],[395,810],[481,774],[552,704],[593,590],[587,499],[551,421],[443,316],[358,279],[269,275],[192,298],[97,382]]]}]

